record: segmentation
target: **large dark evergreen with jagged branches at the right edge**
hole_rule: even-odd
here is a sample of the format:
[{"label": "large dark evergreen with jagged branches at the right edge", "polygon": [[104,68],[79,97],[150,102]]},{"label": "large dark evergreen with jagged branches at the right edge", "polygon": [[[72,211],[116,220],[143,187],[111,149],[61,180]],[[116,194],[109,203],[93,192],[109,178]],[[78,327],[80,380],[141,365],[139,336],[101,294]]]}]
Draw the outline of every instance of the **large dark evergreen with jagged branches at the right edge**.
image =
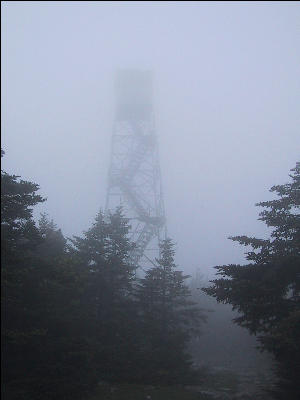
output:
[{"label": "large dark evergreen with jagged branches at the right edge", "polygon": [[240,316],[235,322],[257,334],[261,348],[278,362],[277,398],[298,399],[300,376],[300,163],[292,181],[271,188],[279,197],[258,203],[260,220],[273,229],[270,239],[231,239],[248,251],[247,265],[216,267],[221,278],[204,291],[230,303]]}]

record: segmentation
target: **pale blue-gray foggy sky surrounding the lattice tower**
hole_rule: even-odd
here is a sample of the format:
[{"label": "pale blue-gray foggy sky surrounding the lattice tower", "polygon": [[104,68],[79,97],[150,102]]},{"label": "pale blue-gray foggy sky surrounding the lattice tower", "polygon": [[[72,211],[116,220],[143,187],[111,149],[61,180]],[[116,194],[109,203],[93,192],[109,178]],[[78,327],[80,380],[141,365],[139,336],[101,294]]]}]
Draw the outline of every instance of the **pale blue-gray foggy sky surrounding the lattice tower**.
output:
[{"label": "pale blue-gray foggy sky surrounding the lattice tower", "polygon": [[187,272],[244,261],[299,161],[298,2],[2,2],[3,167],[65,235],[104,207],[117,68],[152,69],[169,235]]}]

